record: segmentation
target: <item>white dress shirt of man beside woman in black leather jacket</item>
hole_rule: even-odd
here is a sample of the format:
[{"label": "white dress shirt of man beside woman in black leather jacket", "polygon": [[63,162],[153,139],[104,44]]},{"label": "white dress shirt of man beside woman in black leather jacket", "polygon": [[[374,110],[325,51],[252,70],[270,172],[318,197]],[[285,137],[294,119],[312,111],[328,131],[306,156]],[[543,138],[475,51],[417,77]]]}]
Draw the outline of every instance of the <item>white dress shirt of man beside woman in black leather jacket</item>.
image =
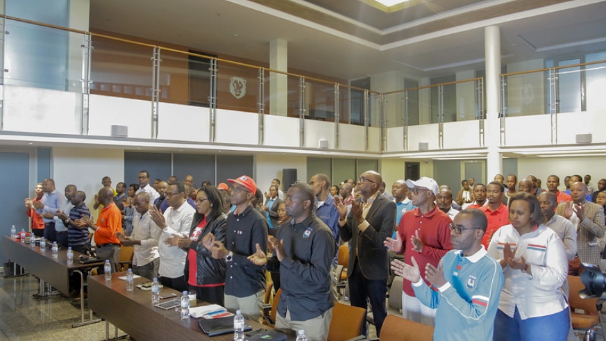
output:
[{"label": "white dress shirt of man beside woman in black leather jacket", "polygon": [[192,227],[194,213],[196,213],[196,210],[194,210],[187,201],[183,201],[183,204],[176,210],[169,207],[165,211],[164,217],[166,219],[167,227],[162,230],[160,240],[158,240],[158,251],[160,253],[160,267],[158,273],[160,276],[169,278],[183,276],[187,252],[179,247],[172,247],[165,244],[165,240],[173,237],[173,235],[187,238],[190,233],[190,228]]}]

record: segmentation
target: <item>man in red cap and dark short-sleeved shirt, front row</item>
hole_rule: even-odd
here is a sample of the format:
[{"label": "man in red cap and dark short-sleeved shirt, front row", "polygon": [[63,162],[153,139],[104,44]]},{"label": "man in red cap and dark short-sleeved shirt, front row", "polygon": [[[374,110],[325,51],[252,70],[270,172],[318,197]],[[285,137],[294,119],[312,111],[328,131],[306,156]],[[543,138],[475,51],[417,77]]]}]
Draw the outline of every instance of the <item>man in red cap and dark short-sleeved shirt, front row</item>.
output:
[{"label": "man in red cap and dark short-sleeved shirt, front row", "polygon": [[208,233],[203,240],[212,258],[226,261],[225,307],[230,311],[242,310],[242,315],[260,322],[265,290],[265,270],[247,258],[257,251],[258,244],[267,250],[267,220],[255,210],[251,201],[257,185],[249,176],[228,179],[233,187],[230,203],[235,206],[227,217],[226,244],[214,240]]}]

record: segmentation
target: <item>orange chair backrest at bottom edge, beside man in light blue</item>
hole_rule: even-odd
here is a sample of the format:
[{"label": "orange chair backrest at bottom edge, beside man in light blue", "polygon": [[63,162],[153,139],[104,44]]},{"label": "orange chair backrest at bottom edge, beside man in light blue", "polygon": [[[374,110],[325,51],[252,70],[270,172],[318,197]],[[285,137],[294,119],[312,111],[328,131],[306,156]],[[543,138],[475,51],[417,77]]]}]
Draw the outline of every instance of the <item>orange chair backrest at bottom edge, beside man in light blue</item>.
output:
[{"label": "orange chair backrest at bottom edge, beside man in light blue", "polygon": [[381,327],[380,341],[433,341],[433,326],[387,315]]}]

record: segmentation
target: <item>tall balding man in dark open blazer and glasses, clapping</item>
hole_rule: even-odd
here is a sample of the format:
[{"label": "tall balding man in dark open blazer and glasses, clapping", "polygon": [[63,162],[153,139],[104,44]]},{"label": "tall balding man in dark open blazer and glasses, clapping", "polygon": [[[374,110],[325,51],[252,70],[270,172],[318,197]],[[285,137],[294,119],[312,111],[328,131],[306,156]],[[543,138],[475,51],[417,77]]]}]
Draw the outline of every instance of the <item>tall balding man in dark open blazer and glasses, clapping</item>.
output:
[{"label": "tall balding man in dark open blazer and glasses, clapping", "polygon": [[378,192],[382,181],[374,171],[360,175],[357,186],[361,198],[352,202],[349,215],[347,206],[335,200],[340,214],[339,233],[344,242],[349,242],[347,276],[351,305],[366,309],[369,299],[377,335],[387,316],[389,268],[383,241],[394,232],[396,220],[396,203]]}]

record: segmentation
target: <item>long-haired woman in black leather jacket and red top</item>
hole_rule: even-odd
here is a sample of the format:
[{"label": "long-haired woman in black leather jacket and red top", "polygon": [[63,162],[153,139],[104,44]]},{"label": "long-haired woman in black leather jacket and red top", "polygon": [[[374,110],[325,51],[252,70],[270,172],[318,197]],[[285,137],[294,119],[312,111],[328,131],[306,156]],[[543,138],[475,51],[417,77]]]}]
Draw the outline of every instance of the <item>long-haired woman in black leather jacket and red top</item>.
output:
[{"label": "long-haired woman in black leather jacket and red top", "polygon": [[196,195],[196,214],[190,238],[174,238],[178,247],[187,251],[185,280],[190,290],[202,301],[223,306],[225,288],[225,260],[212,258],[202,239],[212,233],[215,240],[225,244],[226,215],[223,213],[221,192],[212,185],[201,188]]}]

